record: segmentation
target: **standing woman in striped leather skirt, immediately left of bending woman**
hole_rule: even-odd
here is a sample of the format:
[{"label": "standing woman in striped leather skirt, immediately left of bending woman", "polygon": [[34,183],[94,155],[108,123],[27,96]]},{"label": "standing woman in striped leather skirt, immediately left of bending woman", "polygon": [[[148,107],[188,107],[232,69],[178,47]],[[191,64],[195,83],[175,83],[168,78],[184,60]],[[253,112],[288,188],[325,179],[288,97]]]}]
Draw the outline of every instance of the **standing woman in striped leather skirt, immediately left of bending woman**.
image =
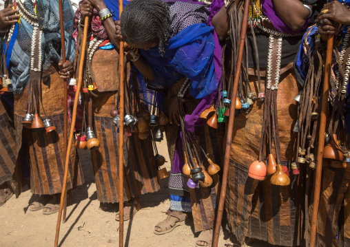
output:
[{"label": "standing woman in striped leather skirt, immediately left of bending woman", "polygon": [[[124,6],[127,3],[124,1]],[[110,16],[109,13],[112,17],[104,18],[105,15]],[[119,150],[116,141],[119,140],[119,128],[113,122],[119,100],[119,54],[115,49],[119,43],[114,40],[114,21],[119,20],[119,3],[115,0],[81,2],[74,17],[74,38],[79,38],[78,33],[83,29],[79,23],[86,16],[91,17],[86,63],[91,63],[91,80],[98,89],[90,94],[91,109],[85,112],[86,116],[88,111],[92,112],[92,126],[101,145],[99,150],[91,152],[97,198],[101,210],[110,211],[119,203]],[[130,101],[129,94],[126,101]],[[151,138],[140,140],[137,135],[125,133],[124,140],[126,202],[123,218],[128,220],[141,208],[138,196],[156,192],[160,186]],[[116,213],[116,220],[119,217]]]}]

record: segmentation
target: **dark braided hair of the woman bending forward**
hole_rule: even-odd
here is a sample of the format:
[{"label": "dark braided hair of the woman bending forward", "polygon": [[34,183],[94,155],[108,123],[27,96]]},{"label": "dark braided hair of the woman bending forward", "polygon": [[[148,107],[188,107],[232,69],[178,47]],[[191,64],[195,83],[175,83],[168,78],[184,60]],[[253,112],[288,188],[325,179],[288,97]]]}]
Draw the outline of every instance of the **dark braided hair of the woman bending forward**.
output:
[{"label": "dark braided hair of the woman bending forward", "polygon": [[159,42],[159,52],[170,39],[169,6],[160,0],[134,0],[121,12],[121,34],[134,45]]}]

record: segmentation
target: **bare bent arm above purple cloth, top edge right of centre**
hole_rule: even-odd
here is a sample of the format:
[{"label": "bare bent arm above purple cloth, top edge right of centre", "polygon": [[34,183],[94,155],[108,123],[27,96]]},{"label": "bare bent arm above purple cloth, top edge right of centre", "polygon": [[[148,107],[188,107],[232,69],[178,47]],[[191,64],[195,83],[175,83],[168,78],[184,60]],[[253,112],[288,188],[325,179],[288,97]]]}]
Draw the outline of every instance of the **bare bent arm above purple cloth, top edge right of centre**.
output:
[{"label": "bare bent arm above purple cloth, top edge right of centre", "polygon": [[297,31],[302,28],[309,16],[309,10],[298,0],[272,0],[278,17],[291,28]]}]

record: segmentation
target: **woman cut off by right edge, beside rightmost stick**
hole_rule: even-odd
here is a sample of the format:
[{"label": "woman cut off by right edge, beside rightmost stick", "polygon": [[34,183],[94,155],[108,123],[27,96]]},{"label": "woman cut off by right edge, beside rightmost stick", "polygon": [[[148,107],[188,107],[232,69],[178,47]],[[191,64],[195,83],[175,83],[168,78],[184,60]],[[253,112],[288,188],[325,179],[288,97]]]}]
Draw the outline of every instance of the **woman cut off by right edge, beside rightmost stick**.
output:
[{"label": "woman cut off by right edge, beside rightmost stick", "polygon": [[[325,4],[316,18],[316,25],[311,26],[305,32],[296,59],[296,69],[300,75],[300,84],[303,86],[301,102],[304,98],[309,98],[313,90],[315,96],[311,98],[315,98],[315,105],[320,105],[321,97],[319,95],[323,87],[324,70],[322,64],[325,61],[326,43],[330,36],[334,36],[327,105],[329,114],[326,125],[326,132],[329,134],[329,138],[325,140],[325,144],[328,143],[327,146],[329,146],[329,143],[333,141],[332,139],[338,137],[338,148],[341,153],[344,153],[344,161],[348,160],[350,149],[349,8],[349,0],[331,1]],[[313,107],[313,104],[311,104],[311,107]],[[300,107],[299,111],[307,112],[311,111],[311,109],[305,105]],[[319,112],[320,109],[313,111]],[[302,122],[310,122],[310,116],[302,116],[299,119]],[[305,131],[304,125],[299,124],[299,126],[299,132]],[[318,133],[318,129],[316,129],[316,133]],[[332,133],[335,135],[333,136]],[[315,146],[315,149],[317,149],[317,145]],[[307,145],[305,145],[305,148],[310,149]],[[311,150],[313,150],[312,147]],[[326,158],[325,155],[323,157]],[[349,175],[349,162],[343,162],[342,158],[333,158],[330,161],[323,160],[316,246],[349,246],[350,244],[350,217],[348,213],[350,211],[348,203],[350,200]],[[344,186],[344,184],[347,185]],[[312,207],[309,208],[309,215],[311,215]]]}]

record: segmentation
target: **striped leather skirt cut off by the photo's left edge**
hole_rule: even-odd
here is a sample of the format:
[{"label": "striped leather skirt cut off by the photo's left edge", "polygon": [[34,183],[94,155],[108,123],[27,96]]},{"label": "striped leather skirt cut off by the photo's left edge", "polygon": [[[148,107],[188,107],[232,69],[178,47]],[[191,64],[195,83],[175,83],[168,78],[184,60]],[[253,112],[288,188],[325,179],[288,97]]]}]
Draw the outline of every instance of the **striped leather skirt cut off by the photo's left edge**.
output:
[{"label": "striped leather skirt cut off by the photo's left edge", "polygon": [[0,98],[0,185],[12,179],[16,156],[13,114],[6,100]]}]

